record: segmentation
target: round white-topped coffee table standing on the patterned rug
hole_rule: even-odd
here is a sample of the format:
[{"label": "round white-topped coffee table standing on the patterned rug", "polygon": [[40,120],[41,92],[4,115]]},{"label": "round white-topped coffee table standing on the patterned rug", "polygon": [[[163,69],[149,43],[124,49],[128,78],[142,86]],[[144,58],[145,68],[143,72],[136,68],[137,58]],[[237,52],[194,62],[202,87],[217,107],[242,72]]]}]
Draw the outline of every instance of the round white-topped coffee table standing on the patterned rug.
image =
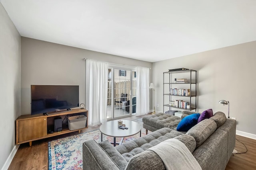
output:
[{"label": "round white-topped coffee table standing on the patterned rug", "polygon": [[114,147],[116,146],[116,137],[122,137],[120,143],[122,143],[122,140],[124,137],[132,136],[140,132],[141,137],[141,125],[139,123],[136,123],[135,121],[130,120],[122,120],[128,129],[120,129],[118,127],[118,120],[112,120],[108,121],[106,123],[103,123],[100,126],[100,132],[101,132],[101,141],[103,138],[103,134],[114,137]]}]

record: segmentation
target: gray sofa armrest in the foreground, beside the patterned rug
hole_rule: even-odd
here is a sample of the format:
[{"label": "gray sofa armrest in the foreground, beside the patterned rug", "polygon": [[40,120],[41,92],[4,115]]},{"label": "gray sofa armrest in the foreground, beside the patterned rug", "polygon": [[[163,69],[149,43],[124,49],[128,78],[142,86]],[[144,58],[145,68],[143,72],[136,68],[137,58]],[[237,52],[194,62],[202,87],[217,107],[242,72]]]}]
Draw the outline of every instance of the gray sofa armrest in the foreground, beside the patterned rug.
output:
[{"label": "gray sofa armrest in the foreground, beside the patterned rug", "polygon": [[83,169],[120,170],[115,162],[94,140],[83,143]]}]

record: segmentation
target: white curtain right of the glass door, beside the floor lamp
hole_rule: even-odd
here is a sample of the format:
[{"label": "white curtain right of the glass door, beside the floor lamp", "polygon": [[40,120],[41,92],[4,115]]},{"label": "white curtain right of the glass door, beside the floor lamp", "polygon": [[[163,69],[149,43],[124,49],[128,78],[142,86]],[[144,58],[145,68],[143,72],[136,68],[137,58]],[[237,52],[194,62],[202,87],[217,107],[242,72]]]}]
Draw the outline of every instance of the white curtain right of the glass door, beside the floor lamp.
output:
[{"label": "white curtain right of the glass door, beside the floor lamp", "polygon": [[136,115],[149,111],[149,68],[137,67]]}]

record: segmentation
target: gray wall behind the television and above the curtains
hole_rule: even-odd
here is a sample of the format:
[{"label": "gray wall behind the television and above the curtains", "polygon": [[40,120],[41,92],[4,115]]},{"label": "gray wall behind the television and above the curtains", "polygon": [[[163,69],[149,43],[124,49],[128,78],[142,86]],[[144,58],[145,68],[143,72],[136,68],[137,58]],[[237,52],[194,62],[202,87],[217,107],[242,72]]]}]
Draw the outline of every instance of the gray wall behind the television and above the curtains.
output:
[{"label": "gray wall behind the television and above the curtains", "polygon": [[[116,64],[152,68],[152,63],[21,37],[21,113],[30,114],[30,85],[79,85],[85,103],[85,61],[95,59]],[[152,71],[150,70],[150,81]]]}]

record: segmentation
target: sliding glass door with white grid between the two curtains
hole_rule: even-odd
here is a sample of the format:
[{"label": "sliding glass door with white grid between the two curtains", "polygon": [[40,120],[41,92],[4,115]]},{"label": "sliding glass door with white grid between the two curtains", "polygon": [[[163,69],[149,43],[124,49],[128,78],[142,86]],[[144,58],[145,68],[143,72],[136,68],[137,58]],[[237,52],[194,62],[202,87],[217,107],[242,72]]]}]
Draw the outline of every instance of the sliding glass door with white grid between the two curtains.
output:
[{"label": "sliding glass door with white grid between the two curtains", "polygon": [[136,113],[136,71],[110,68],[108,77],[107,118],[130,116]]}]

